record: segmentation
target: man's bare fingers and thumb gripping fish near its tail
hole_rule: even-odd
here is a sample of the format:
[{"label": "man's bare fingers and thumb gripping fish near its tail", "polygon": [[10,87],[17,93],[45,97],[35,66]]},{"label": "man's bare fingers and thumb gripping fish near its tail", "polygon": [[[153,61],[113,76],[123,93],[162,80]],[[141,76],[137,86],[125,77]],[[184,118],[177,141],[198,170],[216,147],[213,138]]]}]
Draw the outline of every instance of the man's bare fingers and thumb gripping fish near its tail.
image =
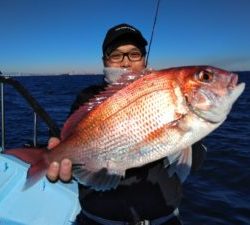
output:
[{"label": "man's bare fingers and thumb gripping fish near its tail", "polygon": [[[48,149],[52,149],[60,143],[56,137],[51,137],[48,141]],[[53,151],[53,150],[52,150]],[[61,163],[52,162],[47,171],[47,177],[50,181],[55,182],[58,179],[68,182],[72,176],[72,162],[69,159],[63,159]]]}]

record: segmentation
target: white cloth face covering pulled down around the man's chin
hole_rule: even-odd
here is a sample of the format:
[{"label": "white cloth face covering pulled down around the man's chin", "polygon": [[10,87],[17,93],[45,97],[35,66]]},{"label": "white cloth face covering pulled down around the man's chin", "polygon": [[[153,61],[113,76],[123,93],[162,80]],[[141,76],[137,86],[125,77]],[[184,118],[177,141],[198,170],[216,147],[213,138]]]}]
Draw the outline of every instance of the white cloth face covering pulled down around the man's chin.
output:
[{"label": "white cloth face covering pulled down around the man's chin", "polygon": [[105,76],[105,81],[109,84],[116,82],[122,74],[129,73],[131,70],[126,68],[116,68],[116,67],[104,67],[103,73]]}]

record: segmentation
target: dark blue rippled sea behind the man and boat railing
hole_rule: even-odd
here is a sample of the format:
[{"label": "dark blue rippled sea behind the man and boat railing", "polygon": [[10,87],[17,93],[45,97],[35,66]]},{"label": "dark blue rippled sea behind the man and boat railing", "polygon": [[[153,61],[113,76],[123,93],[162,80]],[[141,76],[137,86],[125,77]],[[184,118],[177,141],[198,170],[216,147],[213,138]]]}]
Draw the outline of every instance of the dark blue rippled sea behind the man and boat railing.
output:
[{"label": "dark blue rippled sea behind the man and boat railing", "polygon": [[[197,173],[184,184],[180,214],[184,225],[250,224],[250,73],[239,73],[246,89],[226,122],[205,139],[208,154]],[[81,89],[102,76],[17,77],[62,126]],[[14,89],[5,85],[6,148],[32,141],[33,111]],[[38,142],[47,143],[48,129],[38,124]]]}]

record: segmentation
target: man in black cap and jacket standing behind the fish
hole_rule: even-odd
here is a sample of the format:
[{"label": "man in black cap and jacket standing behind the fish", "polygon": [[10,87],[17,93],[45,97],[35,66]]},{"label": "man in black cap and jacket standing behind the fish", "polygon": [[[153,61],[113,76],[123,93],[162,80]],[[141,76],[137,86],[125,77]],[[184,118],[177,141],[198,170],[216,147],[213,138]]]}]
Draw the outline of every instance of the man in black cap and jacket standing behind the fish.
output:
[{"label": "man in black cap and jacket standing behind the fish", "polygon": [[[141,32],[128,24],[111,28],[103,42],[103,64],[107,68],[126,69],[141,72],[145,69],[147,41]],[[117,79],[117,73],[106,75],[106,82]],[[82,91],[72,106],[76,110],[89,98],[104,90],[102,86],[89,87]],[[49,141],[49,148],[59,143],[58,139]],[[203,159],[201,144],[193,146],[193,165],[195,169]],[[198,160],[195,160],[198,159]],[[64,159],[61,164],[52,163],[48,170],[50,180],[58,177],[70,180],[71,162]],[[181,224],[178,205],[181,200],[182,184],[176,174],[169,175],[164,159],[149,163],[140,168],[126,171],[116,189],[98,192],[79,185],[79,198],[82,212],[77,224]]]}]

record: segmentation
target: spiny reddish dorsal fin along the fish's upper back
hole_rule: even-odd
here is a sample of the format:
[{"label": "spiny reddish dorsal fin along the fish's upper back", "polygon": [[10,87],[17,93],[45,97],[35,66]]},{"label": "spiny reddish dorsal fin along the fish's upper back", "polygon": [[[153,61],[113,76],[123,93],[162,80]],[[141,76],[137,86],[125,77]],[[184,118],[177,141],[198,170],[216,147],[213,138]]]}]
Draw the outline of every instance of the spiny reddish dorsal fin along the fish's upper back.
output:
[{"label": "spiny reddish dorsal fin along the fish's upper back", "polygon": [[[120,72],[120,71],[119,71]],[[141,73],[132,73],[125,72],[121,75],[116,81],[112,84],[109,84],[104,91],[101,91],[99,94],[95,95],[88,102],[84,103],[79,107],[64,123],[63,129],[61,131],[61,140],[64,140],[72,134],[77,124],[84,118],[86,115],[96,108],[98,105],[103,103],[110,96],[128,86],[132,82],[138,80],[142,76],[149,74],[152,70],[145,70]]]}]

